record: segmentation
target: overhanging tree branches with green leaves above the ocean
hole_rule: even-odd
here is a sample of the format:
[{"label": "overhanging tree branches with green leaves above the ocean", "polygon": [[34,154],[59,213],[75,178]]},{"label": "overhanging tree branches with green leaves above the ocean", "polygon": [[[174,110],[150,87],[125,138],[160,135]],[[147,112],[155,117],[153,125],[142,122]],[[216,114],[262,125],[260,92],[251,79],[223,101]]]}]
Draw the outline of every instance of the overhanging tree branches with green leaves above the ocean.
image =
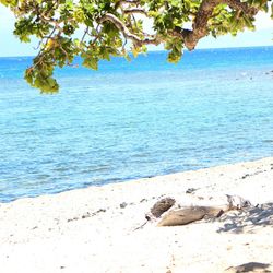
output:
[{"label": "overhanging tree branches with green leaves above the ocean", "polygon": [[[0,0],[15,14],[14,35],[39,40],[39,51],[25,71],[26,81],[41,92],[57,92],[56,67],[81,56],[83,66],[97,69],[102,59],[129,59],[163,44],[168,61],[177,62],[183,48],[194,49],[207,35],[236,35],[254,29],[259,11],[271,12],[272,0]],[[144,29],[143,21],[152,24]],[[80,38],[79,38],[80,37]],[[129,43],[128,43],[129,41]]]}]

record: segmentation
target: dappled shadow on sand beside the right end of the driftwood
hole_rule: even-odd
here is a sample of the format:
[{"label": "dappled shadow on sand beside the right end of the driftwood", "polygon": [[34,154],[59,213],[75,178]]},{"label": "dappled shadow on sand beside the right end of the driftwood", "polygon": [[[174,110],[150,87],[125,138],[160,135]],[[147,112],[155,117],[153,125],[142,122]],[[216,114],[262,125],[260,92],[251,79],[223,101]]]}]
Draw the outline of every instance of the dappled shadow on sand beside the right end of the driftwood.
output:
[{"label": "dappled shadow on sand beside the right end of the driftwood", "polygon": [[265,203],[248,210],[240,211],[237,214],[226,214],[221,222],[224,226],[217,232],[242,233],[246,229],[251,232],[256,227],[272,226],[273,227],[273,203]]}]

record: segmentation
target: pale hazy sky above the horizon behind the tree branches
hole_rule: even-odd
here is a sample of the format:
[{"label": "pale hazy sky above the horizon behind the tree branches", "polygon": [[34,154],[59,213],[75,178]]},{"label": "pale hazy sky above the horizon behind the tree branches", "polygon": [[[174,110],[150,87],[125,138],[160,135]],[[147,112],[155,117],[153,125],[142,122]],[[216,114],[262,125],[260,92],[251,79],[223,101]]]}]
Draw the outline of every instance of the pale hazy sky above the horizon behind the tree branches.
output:
[{"label": "pale hazy sky above the horizon behind the tree branches", "polygon": [[[38,41],[23,44],[14,37],[14,17],[11,12],[0,4],[0,57],[34,56],[37,54]],[[206,37],[200,40],[197,48],[226,48],[226,47],[251,47],[273,46],[273,20],[269,14],[260,13],[257,16],[257,31],[246,31],[236,37],[230,35],[218,37]],[[152,50],[162,50],[163,47],[151,47]]]}]

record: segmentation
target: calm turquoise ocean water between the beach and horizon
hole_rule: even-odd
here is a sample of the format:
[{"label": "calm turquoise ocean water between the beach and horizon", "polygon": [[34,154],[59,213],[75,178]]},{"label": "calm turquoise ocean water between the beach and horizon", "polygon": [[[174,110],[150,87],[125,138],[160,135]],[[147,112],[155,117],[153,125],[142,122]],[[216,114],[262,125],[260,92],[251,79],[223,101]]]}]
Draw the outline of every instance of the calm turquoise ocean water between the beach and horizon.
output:
[{"label": "calm turquoise ocean water between the beach and horizon", "polygon": [[165,52],[57,71],[0,58],[0,202],[273,155],[273,47]]}]

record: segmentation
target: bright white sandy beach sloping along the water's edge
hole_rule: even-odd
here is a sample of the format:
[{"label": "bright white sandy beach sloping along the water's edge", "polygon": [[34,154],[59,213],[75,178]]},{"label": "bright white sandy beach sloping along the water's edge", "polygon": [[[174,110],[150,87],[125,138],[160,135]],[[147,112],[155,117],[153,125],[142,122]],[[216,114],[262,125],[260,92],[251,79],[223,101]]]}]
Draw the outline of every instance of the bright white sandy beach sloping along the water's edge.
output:
[{"label": "bright white sandy beach sloping along the water's edge", "polygon": [[[138,228],[162,197],[191,205],[221,204],[225,194],[265,205]],[[3,273],[271,271],[273,157],[0,203]]]}]

